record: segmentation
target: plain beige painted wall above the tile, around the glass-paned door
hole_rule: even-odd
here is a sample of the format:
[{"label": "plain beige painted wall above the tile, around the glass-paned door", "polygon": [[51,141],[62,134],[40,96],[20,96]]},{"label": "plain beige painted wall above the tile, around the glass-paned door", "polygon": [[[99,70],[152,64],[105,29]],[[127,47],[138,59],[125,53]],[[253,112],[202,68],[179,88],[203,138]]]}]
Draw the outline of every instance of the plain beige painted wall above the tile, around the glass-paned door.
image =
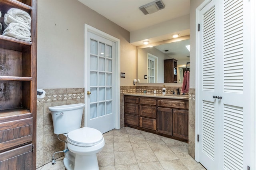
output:
[{"label": "plain beige painted wall above the tile, around the glass-paned door", "polygon": [[136,47],[127,30],[77,0],[38,0],[38,88],[84,87],[84,24],[120,39],[120,85],[132,85]]}]

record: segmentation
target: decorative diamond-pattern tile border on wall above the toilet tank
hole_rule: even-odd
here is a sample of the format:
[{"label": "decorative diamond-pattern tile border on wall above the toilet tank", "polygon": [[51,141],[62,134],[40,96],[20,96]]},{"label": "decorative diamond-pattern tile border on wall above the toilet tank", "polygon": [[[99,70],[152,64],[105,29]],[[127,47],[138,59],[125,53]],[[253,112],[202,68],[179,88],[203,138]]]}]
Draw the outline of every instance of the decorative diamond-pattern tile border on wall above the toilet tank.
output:
[{"label": "decorative diamond-pattern tile border on wall above the toilet tank", "polygon": [[[84,88],[74,89],[44,89],[46,95],[38,98],[37,102],[63,101],[71,99],[84,99]],[[49,93],[47,93],[49,92]]]}]

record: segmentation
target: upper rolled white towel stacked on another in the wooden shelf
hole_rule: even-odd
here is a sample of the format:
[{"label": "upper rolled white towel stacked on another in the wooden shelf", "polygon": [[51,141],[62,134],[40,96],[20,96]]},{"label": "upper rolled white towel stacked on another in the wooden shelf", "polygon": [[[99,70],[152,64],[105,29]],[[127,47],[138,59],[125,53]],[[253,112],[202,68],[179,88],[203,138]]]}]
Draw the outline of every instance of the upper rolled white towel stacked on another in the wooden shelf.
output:
[{"label": "upper rolled white towel stacked on another in the wooden shelf", "polygon": [[23,24],[28,30],[31,29],[31,16],[18,8],[11,8],[4,14],[4,23],[8,26],[11,22]]}]

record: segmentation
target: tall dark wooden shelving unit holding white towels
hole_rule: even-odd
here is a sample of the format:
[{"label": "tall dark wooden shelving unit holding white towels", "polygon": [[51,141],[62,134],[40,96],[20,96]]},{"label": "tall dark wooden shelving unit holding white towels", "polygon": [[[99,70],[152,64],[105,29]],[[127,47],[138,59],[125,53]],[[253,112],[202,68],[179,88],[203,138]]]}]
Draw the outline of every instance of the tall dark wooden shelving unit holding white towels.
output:
[{"label": "tall dark wooden shelving unit holding white towels", "polygon": [[0,0],[31,16],[31,42],[0,32],[0,169],[36,169],[37,0]]}]

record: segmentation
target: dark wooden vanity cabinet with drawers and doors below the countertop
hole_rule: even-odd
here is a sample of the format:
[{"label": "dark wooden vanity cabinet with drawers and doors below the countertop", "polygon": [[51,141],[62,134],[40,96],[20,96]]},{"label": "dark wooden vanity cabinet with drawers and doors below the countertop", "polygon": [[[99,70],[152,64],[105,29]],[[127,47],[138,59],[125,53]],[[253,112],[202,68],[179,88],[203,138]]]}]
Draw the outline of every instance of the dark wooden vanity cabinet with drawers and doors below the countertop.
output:
[{"label": "dark wooden vanity cabinet with drawers and doors below the countertop", "polygon": [[124,97],[124,125],[188,141],[188,100]]}]

